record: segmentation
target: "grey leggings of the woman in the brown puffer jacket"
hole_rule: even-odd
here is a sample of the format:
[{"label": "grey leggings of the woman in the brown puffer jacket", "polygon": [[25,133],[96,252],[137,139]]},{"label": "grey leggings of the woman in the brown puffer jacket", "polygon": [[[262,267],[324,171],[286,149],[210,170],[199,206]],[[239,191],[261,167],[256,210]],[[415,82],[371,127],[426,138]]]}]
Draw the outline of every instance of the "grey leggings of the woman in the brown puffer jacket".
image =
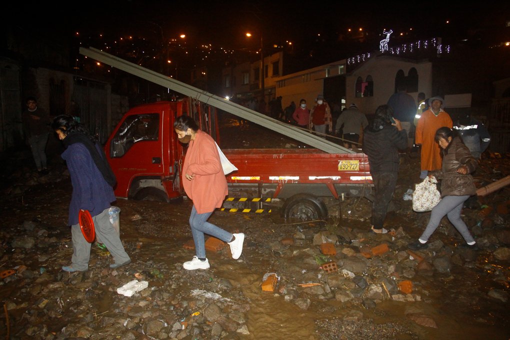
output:
[{"label": "grey leggings of the woman in the brown puffer jacket", "polygon": [[461,233],[464,240],[466,240],[467,243],[474,242],[475,240],[471,236],[466,223],[464,223],[461,218],[462,207],[468,198],[469,195],[443,197],[439,203],[432,208],[432,212],[430,213],[430,220],[428,221],[425,231],[423,231],[421,234],[420,240],[428,241],[430,236],[432,236],[432,233],[436,231],[439,223],[441,223],[441,219],[445,215],[448,215],[448,220],[450,220],[455,229]]}]

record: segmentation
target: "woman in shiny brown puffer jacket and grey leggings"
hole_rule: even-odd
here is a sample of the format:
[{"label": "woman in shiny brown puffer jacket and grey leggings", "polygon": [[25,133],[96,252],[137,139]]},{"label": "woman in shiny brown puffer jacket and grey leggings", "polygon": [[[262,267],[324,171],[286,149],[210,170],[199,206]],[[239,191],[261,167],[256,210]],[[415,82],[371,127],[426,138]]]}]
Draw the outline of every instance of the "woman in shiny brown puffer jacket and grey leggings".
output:
[{"label": "woman in shiny brown puffer jacket and grey leggings", "polygon": [[448,220],[466,241],[463,246],[478,249],[466,223],[461,218],[464,202],[471,195],[476,194],[473,176],[470,174],[476,170],[478,162],[464,145],[456,130],[447,126],[440,127],[436,132],[436,141],[442,149],[442,168],[429,173],[428,176],[441,179],[441,201],[433,207],[427,227],[418,241],[410,243],[407,248],[413,250],[427,248],[428,239],[436,231],[441,219],[447,215]]}]

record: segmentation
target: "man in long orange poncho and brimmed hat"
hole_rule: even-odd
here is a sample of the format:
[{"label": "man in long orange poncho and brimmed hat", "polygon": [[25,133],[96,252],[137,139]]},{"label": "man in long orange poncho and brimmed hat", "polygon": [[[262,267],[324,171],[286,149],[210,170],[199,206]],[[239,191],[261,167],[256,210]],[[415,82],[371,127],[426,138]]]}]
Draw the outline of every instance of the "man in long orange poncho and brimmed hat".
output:
[{"label": "man in long orange poncho and brimmed hat", "polygon": [[421,144],[421,179],[427,177],[429,171],[441,168],[441,149],[436,143],[436,131],[442,126],[453,127],[450,115],[441,108],[443,102],[439,96],[428,99],[430,107],[416,125],[416,144]]}]

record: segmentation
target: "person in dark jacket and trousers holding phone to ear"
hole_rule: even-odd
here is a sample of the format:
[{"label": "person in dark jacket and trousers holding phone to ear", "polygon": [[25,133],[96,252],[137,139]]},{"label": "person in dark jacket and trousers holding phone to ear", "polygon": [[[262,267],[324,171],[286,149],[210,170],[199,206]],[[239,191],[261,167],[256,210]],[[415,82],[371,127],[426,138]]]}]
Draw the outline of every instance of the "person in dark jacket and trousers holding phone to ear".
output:
[{"label": "person in dark jacket and trousers holding phone to ear", "polygon": [[374,183],[375,197],[372,202],[372,227],[375,233],[387,233],[382,225],[386,219],[399,168],[398,149],[407,146],[407,133],[398,119],[393,118],[393,109],[381,105],[375,118],[363,132],[363,152],[368,156],[370,174]]}]

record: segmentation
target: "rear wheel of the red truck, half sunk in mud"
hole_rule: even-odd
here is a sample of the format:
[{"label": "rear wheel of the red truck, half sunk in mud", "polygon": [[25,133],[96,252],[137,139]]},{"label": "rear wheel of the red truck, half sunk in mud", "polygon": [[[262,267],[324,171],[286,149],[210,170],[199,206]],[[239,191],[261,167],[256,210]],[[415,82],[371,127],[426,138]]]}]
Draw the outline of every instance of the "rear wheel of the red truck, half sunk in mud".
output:
[{"label": "rear wheel of the red truck, half sunk in mud", "polygon": [[288,198],[283,206],[285,219],[298,221],[325,220],[327,208],[318,197],[308,194],[297,194]]}]

